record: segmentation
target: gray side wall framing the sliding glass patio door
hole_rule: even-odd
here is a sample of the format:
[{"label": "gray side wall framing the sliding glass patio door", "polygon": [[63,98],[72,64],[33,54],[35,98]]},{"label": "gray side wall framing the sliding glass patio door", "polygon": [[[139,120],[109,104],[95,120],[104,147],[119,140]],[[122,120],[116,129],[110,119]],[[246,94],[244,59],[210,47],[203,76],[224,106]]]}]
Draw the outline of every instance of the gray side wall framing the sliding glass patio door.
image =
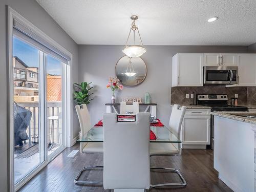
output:
[{"label": "gray side wall framing the sliding glass patio door", "polygon": [[[40,30],[53,38],[73,54],[73,81],[77,81],[78,46],[57,23],[34,0],[0,1],[0,191],[7,191],[7,50],[6,50],[6,5],[27,18]],[[74,136],[78,133],[78,121],[74,115]]]}]

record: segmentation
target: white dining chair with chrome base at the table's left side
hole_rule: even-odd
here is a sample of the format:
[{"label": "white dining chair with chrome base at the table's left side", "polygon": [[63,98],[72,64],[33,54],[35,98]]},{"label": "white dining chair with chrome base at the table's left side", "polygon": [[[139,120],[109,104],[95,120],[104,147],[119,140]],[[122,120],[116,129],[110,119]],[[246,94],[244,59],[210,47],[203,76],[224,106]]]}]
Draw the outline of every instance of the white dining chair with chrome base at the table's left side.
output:
[{"label": "white dining chair with chrome base at the table's left side", "polygon": [[[87,109],[86,104],[76,105],[76,112],[80,123],[79,137],[85,135],[91,128],[91,117]],[[103,143],[102,142],[80,142],[80,153],[84,154],[103,154]],[[101,165],[83,167],[75,178],[76,184],[97,184],[102,185],[99,181],[78,181],[81,174],[90,169],[103,168]]]}]

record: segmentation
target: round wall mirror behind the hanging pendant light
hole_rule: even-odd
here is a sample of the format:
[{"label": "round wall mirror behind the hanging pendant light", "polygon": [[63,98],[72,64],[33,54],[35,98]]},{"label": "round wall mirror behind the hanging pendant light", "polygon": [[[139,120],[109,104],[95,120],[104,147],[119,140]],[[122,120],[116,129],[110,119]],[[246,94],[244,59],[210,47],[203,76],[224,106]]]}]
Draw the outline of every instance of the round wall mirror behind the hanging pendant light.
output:
[{"label": "round wall mirror behind the hanging pendant light", "polygon": [[123,56],[116,63],[116,77],[124,86],[137,86],[146,77],[146,63],[140,57]]}]

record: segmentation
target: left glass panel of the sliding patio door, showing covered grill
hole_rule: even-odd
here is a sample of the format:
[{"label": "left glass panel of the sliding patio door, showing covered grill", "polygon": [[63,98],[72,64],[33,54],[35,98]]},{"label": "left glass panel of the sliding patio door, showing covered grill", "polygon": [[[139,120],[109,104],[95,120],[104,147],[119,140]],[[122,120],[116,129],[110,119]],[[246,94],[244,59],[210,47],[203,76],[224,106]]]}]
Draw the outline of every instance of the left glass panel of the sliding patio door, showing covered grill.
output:
[{"label": "left glass panel of the sliding patio door, showing covered grill", "polygon": [[45,161],[40,51],[13,37],[14,183]]}]

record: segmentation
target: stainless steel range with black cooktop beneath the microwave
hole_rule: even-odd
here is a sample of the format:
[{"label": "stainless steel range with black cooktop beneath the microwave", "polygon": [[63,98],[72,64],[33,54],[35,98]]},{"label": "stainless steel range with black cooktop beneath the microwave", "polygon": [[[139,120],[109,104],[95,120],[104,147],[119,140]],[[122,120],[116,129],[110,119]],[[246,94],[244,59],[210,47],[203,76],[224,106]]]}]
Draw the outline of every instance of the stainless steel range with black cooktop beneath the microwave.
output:
[{"label": "stainless steel range with black cooktop beneath the microwave", "polygon": [[[248,112],[246,106],[236,106],[228,104],[228,97],[226,94],[216,95],[197,95],[197,104],[210,106],[212,112]],[[214,117],[211,115],[211,149],[214,149]]]}]

